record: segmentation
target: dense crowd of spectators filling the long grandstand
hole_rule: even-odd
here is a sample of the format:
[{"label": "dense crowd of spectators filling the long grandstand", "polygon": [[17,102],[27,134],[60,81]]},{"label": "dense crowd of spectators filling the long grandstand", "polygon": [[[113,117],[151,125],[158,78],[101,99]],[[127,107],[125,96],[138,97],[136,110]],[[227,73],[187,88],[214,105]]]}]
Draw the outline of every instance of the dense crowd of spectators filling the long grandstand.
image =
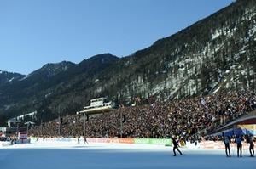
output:
[{"label": "dense crowd of spectators filling the long grandstand", "polygon": [[175,135],[195,140],[254,110],[255,93],[255,90],[241,91],[165,102],[150,99],[148,104],[137,102],[108,113],[89,115],[85,128],[83,115],[67,115],[61,117],[61,122],[45,122],[42,130],[32,127],[30,134],[76,138],[84,135],[85,129],[87,138],[170,138]]}]

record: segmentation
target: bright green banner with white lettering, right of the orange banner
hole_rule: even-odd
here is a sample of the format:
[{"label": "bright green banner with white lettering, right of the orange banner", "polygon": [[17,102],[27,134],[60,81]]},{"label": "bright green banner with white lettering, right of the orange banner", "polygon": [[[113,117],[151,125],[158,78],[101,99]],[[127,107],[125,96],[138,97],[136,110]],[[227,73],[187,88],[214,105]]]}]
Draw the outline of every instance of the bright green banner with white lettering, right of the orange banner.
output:
[{"label": "bright green banner with white lettering, right of the orange banner", "polygon": [[134,138],[134,144],[172,145],[172,139]]}]

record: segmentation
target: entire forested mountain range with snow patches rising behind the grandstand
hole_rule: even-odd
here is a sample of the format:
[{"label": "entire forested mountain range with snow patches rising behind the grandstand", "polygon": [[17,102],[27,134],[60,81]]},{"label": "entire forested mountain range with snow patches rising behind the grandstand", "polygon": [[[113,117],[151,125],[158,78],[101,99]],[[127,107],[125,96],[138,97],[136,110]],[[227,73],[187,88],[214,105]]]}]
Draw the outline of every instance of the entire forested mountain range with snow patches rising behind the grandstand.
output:
[{"label": "entire forested mountain range with snow patches rising behind the grandstand", "polygon": [[137,97],[146,104],[150,96],[163,101],[170,93],[173,99],[187,99],[255,90],[255,19],[256,1],[236,0],[124,58],[98,54],[78,65],[65,62],[70,64],[65,69],[62,63],[58,71],[44,65],[15,82],[1,77],[0,119],[36,110],[36,121],[48,121],[59,112],[74,114],[102,96],[131,105]]}]

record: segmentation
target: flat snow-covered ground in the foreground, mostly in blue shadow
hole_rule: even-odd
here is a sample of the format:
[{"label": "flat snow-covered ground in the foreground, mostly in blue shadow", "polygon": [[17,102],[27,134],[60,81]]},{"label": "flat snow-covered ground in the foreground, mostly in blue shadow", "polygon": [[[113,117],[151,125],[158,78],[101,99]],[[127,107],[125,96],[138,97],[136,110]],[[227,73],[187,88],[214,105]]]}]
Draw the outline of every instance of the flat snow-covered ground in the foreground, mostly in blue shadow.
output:
[{"label": "flat snow-covered ground in the foreground, mostly in blue shadow", "polygon": [[172,147],[138,144],[77,144],[39,141],[0,147],[1,169],[254,169],[256,158],[248,150],[242,157],[231,149],[180,148],[184,155],[173,156]]}]

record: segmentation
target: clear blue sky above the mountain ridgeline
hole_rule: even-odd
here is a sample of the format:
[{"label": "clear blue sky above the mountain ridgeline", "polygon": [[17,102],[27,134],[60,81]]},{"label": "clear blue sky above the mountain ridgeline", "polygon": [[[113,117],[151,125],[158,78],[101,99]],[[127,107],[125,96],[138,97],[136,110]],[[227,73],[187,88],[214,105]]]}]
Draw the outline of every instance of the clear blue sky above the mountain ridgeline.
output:
[{"label": "clear blue sky above the mountain ridgeline", "polygon": [[0,0],[0,70],[125,57],[235,0]]}]

